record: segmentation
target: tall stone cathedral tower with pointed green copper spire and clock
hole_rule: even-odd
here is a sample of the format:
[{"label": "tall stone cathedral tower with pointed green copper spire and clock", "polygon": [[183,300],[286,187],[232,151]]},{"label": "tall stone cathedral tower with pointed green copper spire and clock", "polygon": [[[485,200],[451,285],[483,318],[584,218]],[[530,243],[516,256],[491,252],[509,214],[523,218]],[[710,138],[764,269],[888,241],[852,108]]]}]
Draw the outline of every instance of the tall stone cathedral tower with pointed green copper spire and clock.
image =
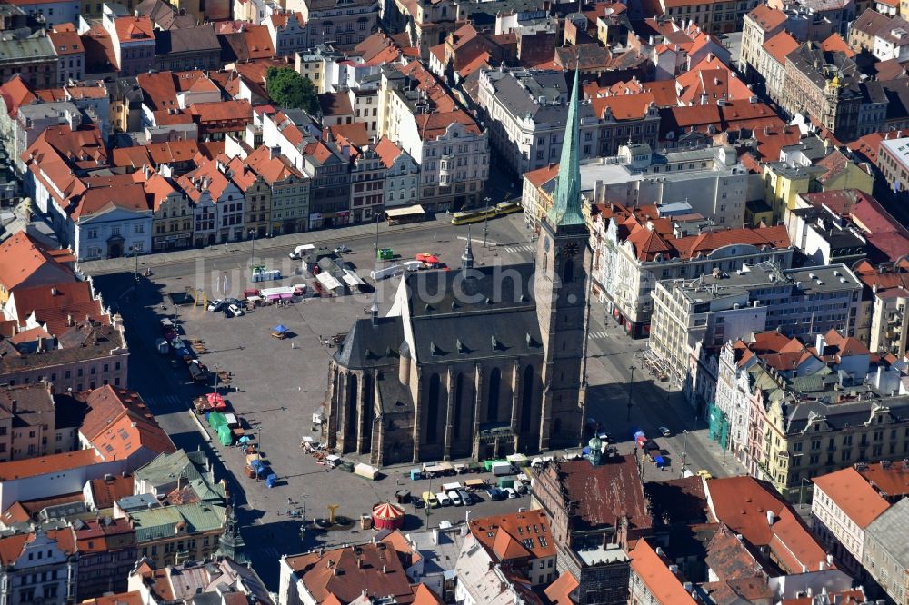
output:
[{"label": "tall stone cathedral tower with pointed green copper spire and clock", "polygon": [[541,222],[536,251],[534,289],[544,350],[541,451],[583,441],[592,254],[581,213],[580,88],[575,70],[553,206]]}]

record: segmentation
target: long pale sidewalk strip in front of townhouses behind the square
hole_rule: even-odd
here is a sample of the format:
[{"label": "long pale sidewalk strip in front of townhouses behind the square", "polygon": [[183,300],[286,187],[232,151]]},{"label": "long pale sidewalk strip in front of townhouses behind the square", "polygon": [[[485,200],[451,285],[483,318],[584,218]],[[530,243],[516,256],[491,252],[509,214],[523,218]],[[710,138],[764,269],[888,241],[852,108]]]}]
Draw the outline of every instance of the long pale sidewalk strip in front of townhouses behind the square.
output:
[{"label": "long pale sidewalk strip in front of townhouses behind the square", "polygon": [[[406,223],[391,226],[385,221],[380,221],[378,223],[379,245],[382,245],[383,233],[425,231],[428,229],[440,229],[450,225],[451,223],[448,222],[447,214],[439,214],[424,223]],[[275,249],[281,248],[286,248],[289,252],[300,243],[313,243],[316,245],[320,243],[337,243],[343,240],[365,239],[370,236],[375,237],[375,233],[375,223],[357,223],[345,227],[276,235],[275,237],[264,237],[261,239],[246,240],[245,242],[217,243],[206,248],[187,248],[185,250],[175,250],[165,253],[144,254],[139,257],[139,264],[145,266],[186,263],[195,261],[196,259],[216,258],[224,256],[225,254],[249,254],[256,251],[265,253],[266,251],[274,251]],[[81,273],[92,275],[132,270],[134,266],[135,260],[132,256],[78,263],[78,269]]]}]

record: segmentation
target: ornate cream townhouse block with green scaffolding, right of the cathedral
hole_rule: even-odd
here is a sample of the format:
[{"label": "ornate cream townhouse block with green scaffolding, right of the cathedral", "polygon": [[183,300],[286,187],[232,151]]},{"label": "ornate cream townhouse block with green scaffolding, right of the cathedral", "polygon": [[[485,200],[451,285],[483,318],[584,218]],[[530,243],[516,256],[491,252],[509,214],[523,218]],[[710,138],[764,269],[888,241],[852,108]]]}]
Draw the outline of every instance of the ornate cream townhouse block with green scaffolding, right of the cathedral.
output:
[{"label": "ornate cream townhouse block with green scaffolding, right of the cathedral", "polygon": [[814,342],[754,332],[720,353],[711,432],[790,501],[808,481],[909,453],[904,366],[831,330]]}]

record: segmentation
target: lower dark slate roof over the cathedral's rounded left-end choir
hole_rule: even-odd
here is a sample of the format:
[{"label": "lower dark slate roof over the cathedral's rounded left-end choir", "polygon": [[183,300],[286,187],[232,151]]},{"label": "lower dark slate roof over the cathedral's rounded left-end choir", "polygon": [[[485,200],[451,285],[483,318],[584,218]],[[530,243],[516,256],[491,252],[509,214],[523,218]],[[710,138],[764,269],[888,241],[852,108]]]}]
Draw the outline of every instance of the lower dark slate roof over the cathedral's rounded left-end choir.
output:
[{"label": "lower dark slate roof over the cathedral's rounded left-end choir", "polygon": [[398,362],[404,328],[400,317],[380,317],[354,322],[335,352],[335,362],[345,368],[380,368]]}]

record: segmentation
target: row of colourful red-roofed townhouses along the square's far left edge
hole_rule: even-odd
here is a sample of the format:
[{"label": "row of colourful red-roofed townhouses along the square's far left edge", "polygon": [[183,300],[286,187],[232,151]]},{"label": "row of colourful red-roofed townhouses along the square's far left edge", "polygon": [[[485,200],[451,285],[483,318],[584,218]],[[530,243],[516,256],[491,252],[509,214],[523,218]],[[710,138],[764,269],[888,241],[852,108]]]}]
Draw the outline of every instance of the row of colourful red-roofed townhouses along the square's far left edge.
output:
[{"label": "row of colourful red-roofed townhouses along the square's far left edge", "polygon": [[[258,117],[268,144],[230,137],[212,159],[195,142],[130,148],[115,164],[135,172],[112,177],[92,174],[108,165],[97,129],[51,126],[23,154],[26,191],[80,260],[370,221],[386,204],[423,202],[419,167],[391,141],[356,148],[304,138],[282,112]],[[74,162],[70,152],[94,159]]]}]

